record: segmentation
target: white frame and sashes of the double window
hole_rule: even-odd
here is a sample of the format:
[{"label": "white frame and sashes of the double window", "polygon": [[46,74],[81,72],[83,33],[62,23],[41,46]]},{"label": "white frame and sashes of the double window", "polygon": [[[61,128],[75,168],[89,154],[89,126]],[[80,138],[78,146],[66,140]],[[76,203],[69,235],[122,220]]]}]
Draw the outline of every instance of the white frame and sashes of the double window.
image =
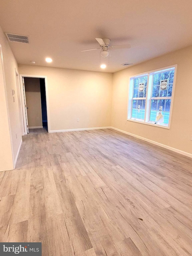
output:
[{"label": "white frame and sashes of the double window", "polygon": [[[162,72],[165,72],[165,71],[173,70],[173,68],[175,69],[175,72],[174,72],[173,89],[172,89],[171,97],[152,97],[153,75],[157,74],[157,73],[162,73]],[[152,71],[149,71],[149,72],[145,72],[145,73],[141,73],[141,74],[137,74],[137,75],[129,77],[127,121],[138,122],[138,123],[142,123],[142,124],[146,124],[146,125],[153,125],[153,126],[157,126],[157,127],[161,127],[161,128],[170,129],[172,109],[173,109],[173,98],[174,98],[174,91],[175,91],[176,72],[177,72],[177,64],[172,65],[172,66],[168,66],[168,67],[165,67],[165,68],[155,69],[155,70],[152,70]],[[131,114],[132,114],[134,78],[143,77],[143,76],[148,76],[146,97],[134,98],[136,100],[137,99],[146,100],[146,103],[145,103],[145,117],[144,117],[144,120],[141,120],[141,119],[131,118]],[[171,99],[170,116],[169,116],[168,125],[164,125],[164,124],[159,125],[159,124],[155,124],[155,122],[149,121],[151,100],[152,99],[164,99],[164,100],[165,99]]]}]

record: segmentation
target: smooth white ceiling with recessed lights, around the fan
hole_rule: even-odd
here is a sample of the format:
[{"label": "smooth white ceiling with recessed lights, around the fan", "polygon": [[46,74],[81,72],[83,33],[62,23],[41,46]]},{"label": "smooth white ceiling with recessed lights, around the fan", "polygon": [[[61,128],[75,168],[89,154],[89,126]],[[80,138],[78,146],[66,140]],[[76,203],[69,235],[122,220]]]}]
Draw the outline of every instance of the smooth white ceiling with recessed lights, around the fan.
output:
[{"label": "smooth white ceiling with recessed lights, around the fan", "polygon": [[[95,38],[110,38],[105,72],[140,63],[192,44],[191,0],[1,0],[0,25],[4,32],[28,35],[30,44],[9,42],[20,64],[103,71]],[[45,58],[53,59],[46,63]],[[107,61],[106,58],[102,58]],[[34,64],[32,64],[34,65]]]}]

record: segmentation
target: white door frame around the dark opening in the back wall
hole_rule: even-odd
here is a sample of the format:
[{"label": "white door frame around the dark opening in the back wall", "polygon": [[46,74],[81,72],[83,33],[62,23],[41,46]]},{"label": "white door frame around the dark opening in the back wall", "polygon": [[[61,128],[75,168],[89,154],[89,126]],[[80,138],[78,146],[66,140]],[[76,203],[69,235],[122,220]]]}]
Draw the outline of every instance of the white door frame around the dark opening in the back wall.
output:
[{"label": "white door frame around the dark opening in the back wall", "polygon": [[23,77],[44,78],[45,79],[45,95],[46,95],[46,108],[47,108],[47,130],[48,130],[48,132],[50,132],[49,98],[48,98],[47,77],[46,76],[19,74],[20,89],[21,89],[21,101],[22,101],[22,110],[23,110],[23,120],[25,120],[24,121],[24,131],[25,131],[25,134],[27,134],[27,121],[26,121],[26,110],[25,110],[25,101],[24,101],[24,92],[23,92],[23,81],[22,81]]}]

